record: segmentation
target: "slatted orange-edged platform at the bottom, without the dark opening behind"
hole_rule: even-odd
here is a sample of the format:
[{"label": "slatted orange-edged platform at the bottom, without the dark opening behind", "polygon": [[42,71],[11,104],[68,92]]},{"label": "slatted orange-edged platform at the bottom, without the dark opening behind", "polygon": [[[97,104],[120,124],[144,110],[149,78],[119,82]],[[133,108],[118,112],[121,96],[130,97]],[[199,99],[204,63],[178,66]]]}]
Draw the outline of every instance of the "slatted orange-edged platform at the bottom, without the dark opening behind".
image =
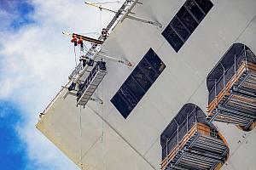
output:
[{"label": "slatted orange-edged platform at the bottom, without the dark opening behind", "polygon": [[192,128],[190,135],[188,133],[170,152],[169,161],[164,166],[162,164],[163,170],[212,170],[224,164],[229,153],[224,140],[218,138],[218,133],[206,130],[206,125],[197,123],[194,128],[197,130]]}]

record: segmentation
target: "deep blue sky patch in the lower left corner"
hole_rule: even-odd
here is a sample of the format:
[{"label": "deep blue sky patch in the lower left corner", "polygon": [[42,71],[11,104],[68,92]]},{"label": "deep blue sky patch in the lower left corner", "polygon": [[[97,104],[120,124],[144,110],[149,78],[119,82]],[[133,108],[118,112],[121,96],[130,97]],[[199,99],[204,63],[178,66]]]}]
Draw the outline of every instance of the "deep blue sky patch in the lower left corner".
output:
[{"label": "deep blue sky patch in the lower left corner", "polygon": [[15,130],[23,122],[20,111],[14,104],[4,101],[0,102],[0,111],[0,169],[25,169],[25,146]]}]

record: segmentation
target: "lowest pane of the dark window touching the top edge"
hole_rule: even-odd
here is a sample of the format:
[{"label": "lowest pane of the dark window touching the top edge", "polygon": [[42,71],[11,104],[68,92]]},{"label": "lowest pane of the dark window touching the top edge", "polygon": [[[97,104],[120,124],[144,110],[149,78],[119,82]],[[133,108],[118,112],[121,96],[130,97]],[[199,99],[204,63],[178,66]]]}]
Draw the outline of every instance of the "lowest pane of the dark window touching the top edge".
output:
[{"label": "lowest pane of the dark window touching the top edge", "polygon": [[162,35],[166,37],[167,42],[171,44],[172,48],[176,52],[183,46],[182,39],[177,36],[177,33],[172,30],[171,26],[167,26]]}]

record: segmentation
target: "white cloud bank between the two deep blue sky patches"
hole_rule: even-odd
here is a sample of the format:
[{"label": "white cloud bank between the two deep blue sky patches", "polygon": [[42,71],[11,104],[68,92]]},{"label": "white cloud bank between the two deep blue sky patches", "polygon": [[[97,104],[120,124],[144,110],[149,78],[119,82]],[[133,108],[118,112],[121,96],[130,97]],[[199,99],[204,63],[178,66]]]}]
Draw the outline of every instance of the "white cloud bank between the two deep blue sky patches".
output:
[{"label": "white cloud bank between the two deep blue sky patches", "polygon": [[[57,150],[35,128],[38,113],[67,82],[73,71],[73,47],[61,31],[79,33],[100,31],[113,14],[84,5],[83,0],[31,0],[35,24],[19,31],[0,32],[0,99],[11,100],[20,108],[26,122],[17,127],[26,146],[27,169],[75,169],[75,165]],[[117,5],[111,5],[111,7]],[[9,26],[7,14],[0,11],[4,26]],[[102,18],[102,24],[101,22]],[[34,166],[34,167],[32,167]]]}]

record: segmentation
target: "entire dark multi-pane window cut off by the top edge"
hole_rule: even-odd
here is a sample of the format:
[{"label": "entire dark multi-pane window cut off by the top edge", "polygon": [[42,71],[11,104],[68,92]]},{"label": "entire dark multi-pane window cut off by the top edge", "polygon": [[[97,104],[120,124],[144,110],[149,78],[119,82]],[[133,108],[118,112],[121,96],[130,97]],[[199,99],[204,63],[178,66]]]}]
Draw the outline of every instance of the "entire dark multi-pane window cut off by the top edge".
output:
[{"label": "entire dark multi-pane window cut off by the top edge", "polygon": [[184,42],[195,31],[213,4],[210,0],[187,0],[162,35],[176,52],[182,48]]}]

